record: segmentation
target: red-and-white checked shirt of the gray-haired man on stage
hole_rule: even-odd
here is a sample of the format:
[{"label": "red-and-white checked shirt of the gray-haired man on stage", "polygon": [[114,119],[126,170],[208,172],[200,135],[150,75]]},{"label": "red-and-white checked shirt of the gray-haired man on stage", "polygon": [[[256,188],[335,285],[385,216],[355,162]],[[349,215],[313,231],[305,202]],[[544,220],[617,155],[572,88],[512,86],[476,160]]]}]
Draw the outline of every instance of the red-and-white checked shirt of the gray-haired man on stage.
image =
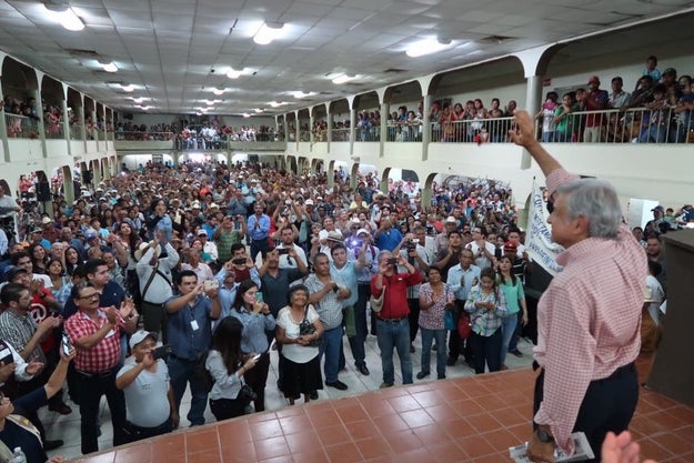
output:
[{"label": "red-and-white checked shirt of the gray-haired man on stage", "polygon": [[[547,177],[547,190],[576,179],[557,169]],[[545,376],[534,421],[549,425],[559,446],[573,452],[570,435],[591,381],[610,376],[638,355],[647,264],[624,223],[616,239],[587,238],[556,262],[564,270],[537,305],[534,353]]]}]

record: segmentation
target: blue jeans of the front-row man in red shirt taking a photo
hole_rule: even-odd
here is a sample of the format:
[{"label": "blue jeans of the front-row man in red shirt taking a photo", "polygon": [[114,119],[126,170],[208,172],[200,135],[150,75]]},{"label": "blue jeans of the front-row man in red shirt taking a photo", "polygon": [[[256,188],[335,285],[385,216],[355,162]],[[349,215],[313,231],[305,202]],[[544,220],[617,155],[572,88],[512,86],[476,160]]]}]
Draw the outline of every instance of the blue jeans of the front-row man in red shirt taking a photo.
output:
[{"label": "blue jeans of the front-row man in red shirt taking a photo", "polygon": [[412,384],[412,359],[410,359],[410,324],[408,319],[383,320],[376,319],[376,338],[381,350],[381,366],[383,368],[383,382],[395,382],[395,368],[393,366],[393,349],[398,350],[402,383]]}]

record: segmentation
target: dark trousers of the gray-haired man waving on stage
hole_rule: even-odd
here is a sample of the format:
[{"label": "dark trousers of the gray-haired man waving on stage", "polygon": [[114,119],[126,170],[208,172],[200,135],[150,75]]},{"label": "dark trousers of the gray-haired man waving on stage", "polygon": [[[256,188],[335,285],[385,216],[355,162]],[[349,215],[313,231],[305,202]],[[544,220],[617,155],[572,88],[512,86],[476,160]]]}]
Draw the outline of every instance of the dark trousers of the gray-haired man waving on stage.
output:
[{"label": "dark trousers of the gray-haired man waving on stage", "polygon": [[[544,399],[544,370],[535,380],[533,416]],[[591,381],[585,392],[573,432],[585,433],[595,460],[601,461],[602,443],[607,431],[615,434],[628,429],[638,402],[638,375],[634,363],[624,365],[603,380]]]}]

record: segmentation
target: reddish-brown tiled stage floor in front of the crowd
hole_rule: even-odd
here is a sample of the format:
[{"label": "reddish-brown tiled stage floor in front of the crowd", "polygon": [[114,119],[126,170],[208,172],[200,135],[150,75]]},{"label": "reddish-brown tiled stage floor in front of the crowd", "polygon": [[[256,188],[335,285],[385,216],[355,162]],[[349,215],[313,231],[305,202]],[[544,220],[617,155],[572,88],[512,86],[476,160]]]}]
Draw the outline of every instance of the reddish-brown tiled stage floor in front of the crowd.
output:
[{"label": "reddish-brown tiled stage floor in front of the crowd", "polygon": [[[637,362],[645,379],[650,359]],[[509,462],[531,435],[530,369],[319,401],[187,429],[82,457],[89,463]],[[642,454],[694,462],[694,407],[642,389]]]}]

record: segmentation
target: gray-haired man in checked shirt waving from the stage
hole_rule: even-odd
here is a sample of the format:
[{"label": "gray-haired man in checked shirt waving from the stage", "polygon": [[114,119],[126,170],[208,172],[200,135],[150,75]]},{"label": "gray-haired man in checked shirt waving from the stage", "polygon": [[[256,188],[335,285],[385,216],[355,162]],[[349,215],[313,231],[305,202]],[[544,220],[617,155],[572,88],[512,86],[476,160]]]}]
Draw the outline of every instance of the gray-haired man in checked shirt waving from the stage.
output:
[{"label": "gray-haired man in checked shirt waving from the stage", "polygon": [[533,120],[516,111],[511,139],[546,175],[552,240],[565,248],[557,274],[537,305],[534,462],[554,450],[574,453],[584,432],[596,460],[608,431],[625,431],[638,401],[634,360],[641,346],[646,255],[622,220],[614,188],[567,173],[535,138]]}]

